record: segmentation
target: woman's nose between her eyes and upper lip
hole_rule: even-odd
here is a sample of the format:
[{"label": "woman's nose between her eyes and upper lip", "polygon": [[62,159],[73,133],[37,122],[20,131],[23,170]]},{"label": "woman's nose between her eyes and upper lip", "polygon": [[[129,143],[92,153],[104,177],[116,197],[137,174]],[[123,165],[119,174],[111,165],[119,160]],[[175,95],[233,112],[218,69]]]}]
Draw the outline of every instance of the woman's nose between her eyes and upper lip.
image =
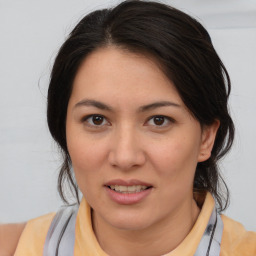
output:
[{"label": "woman's nose between her eyes and upper lip", "polygon": [[120,169],[130,170],[142,166],[146,155],[142,147],[141,138],[135,129],[123,127],[113,135],[109,163]]}]

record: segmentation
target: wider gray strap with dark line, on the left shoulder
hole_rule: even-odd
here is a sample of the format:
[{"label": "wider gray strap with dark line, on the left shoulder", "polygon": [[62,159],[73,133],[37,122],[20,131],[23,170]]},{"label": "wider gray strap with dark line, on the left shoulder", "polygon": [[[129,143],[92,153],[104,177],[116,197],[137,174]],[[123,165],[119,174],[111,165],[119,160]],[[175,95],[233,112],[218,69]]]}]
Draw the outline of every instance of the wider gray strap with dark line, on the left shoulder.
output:
[{"label": "wider gray strap with dark line, on the left shoulder", "polygon": [[78,206],[61,208],[48,230],[43,256],[74,255],[75,224]]}]

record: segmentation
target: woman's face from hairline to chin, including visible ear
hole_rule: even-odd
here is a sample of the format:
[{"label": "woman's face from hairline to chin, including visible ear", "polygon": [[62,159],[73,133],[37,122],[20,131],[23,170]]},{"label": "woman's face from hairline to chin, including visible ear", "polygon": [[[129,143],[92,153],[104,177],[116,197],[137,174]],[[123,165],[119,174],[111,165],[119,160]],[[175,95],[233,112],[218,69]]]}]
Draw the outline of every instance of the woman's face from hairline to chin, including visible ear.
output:
[{"label": "woman's face from hairline to chin, including visible ear", "polygon": [[209,157],[216,130],[202,131],[149,58],[99,49],[75,77],[68,150],[80,190],[106,225],[144,229],[191,207],[196,165]]}]

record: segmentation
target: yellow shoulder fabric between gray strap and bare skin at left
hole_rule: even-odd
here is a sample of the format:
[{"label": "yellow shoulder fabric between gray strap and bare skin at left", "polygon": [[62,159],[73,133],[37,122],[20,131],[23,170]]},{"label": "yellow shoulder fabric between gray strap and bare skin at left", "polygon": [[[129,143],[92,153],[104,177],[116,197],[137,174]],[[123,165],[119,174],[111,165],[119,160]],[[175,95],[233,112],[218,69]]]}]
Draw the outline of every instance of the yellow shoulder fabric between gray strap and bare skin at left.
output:
[{"label": "yellow shoulder fabric between gray strap and bare skin at left", "polygon": [[55,213],[49,213],[28,221],[14,255],[43,255],[45,238],[54,216]]}]

